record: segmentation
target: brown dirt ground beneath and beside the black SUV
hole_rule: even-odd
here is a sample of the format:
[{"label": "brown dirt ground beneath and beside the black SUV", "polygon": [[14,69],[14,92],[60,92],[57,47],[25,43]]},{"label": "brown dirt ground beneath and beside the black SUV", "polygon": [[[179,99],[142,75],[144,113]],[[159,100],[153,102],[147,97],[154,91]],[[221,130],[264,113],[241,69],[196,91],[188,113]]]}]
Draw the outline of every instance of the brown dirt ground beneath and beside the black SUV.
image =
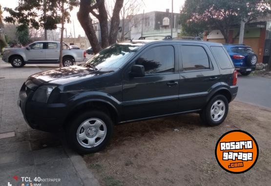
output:
[{"label": "brown dirt ground beneath and beside the black SUV", "polygon": [[[249,132],[259,146],[257,163],[242,174],[223,170],[214,154],[219,137],[235,129]],[[270,142],[271,110],[232,102],[216,127],[201,124],[198,114],[116,126],[110,145],[84,160],[102,186],[265,186],[271,183]]]}]

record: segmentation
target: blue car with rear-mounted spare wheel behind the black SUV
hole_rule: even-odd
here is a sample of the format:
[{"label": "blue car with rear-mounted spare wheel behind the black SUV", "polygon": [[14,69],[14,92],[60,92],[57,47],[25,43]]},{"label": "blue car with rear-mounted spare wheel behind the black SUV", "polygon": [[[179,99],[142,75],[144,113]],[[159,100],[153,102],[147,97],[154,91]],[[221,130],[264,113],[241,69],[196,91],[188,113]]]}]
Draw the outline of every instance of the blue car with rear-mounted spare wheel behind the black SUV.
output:
[{"label": "blue car with rear-mounted spare wheel behind the black SUV", "polygon": [[244,76],[250,75],[256,68],[257,55],[250,46],[240,44],[223,44],[227,49],[235,69]]}]

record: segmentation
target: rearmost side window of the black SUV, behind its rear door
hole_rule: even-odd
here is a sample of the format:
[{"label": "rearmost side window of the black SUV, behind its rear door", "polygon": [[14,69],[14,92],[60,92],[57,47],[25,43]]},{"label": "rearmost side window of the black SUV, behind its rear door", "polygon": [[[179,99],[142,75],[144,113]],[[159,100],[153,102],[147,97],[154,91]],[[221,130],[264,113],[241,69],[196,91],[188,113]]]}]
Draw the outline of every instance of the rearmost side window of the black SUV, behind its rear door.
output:
[{"label": "rearmost side window of the black SUV, behind its rear door", "polygon": [[211,46],[211,51],[221,69],[233,68],[229,56],[222,46]]}]

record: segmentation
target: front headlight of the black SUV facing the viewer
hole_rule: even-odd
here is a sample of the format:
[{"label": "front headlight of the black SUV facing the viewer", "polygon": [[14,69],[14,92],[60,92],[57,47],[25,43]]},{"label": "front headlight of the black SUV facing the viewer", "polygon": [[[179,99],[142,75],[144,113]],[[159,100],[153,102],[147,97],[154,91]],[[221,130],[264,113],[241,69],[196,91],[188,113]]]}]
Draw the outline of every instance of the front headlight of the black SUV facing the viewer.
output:
[{"label": "front headlight of the black SUV facing the viewer", "polygon": [[32,97],[32,101],[35,102],[42,102],[47,103],[48,98],[51,94],[51,92],[56,88],[57,86],[52,85],[43,85],[40,86],[34,93],[34,96]]}]

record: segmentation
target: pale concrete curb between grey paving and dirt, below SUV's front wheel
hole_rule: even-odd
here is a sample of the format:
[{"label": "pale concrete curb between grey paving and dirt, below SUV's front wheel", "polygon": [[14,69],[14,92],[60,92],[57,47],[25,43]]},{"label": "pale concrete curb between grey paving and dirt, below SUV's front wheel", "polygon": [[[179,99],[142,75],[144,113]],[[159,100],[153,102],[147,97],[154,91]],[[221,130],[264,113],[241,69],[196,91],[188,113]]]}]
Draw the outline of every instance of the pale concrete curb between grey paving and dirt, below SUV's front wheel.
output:
[{"label": "pale concrete curb between grey paving and dirt, below SUV's front wheel", "polygon": [[64,137],[62,137],[62,144],[79,178],[82,180],[83,185],[84,186],[100,186],[98,180],[94,177],[93,173],[86,167],[85,161],[83,160],[82,156],[80,156],[78,153],[71,150],[67,146],[67,143]]}]

